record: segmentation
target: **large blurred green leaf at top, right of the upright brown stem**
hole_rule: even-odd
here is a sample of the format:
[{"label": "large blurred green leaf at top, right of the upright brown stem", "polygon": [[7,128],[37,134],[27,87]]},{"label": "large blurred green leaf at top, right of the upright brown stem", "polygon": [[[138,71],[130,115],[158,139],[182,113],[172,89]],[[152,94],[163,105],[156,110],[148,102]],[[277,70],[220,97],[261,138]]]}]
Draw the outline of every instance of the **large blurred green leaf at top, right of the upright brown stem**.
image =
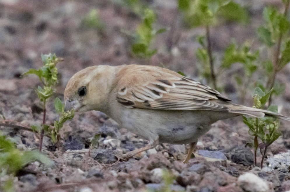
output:
[{"label": "large blurred green leaf at top, right of the upright brown stem", "polygon": [[229,21],[242,23],[247,23],[249,21],[247,10],[234,1],[230,1],[225,6],[222,6],[218,14]]}]

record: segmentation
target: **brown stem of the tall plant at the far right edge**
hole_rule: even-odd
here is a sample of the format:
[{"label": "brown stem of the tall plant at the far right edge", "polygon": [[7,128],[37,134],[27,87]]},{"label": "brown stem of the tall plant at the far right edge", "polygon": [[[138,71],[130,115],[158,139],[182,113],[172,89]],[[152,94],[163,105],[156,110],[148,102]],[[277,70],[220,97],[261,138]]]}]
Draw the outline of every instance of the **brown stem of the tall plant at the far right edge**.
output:
[{"label": "brown stem of the tall plant at the far right edge", "polygon": [[[287,4],[286,4],[286,6],[285,6],[285,10],[284,10],[284,16],[285,17],[287,17],[287,13],[288,13],[288,9],[289,9],[289,4],[290,4],[290,1],[288,1]],[[272,87],[274,87],[274,83],[275,83],[275,79],[276,79],[276,74],[277,74],[277,72],[279,72],[281,70],[280,66],[278,66],[278,63],[279,63],[279,56],[280,56],[280,51],[281,51],[282,37],[283,37],[283,33],[280,32],[279,39],[278,39],[278,43],[277,43],[277,49],[275,51],[274,61],[273,61],[274,72],[272,74],[272,77],[269,78],[268,79],[268,82],[267,82],[267,88],[269,90]],[[272,93],[271,93],[270,98],[269,98],[268,106],[271,105],[271,102],[272,102]]]}]

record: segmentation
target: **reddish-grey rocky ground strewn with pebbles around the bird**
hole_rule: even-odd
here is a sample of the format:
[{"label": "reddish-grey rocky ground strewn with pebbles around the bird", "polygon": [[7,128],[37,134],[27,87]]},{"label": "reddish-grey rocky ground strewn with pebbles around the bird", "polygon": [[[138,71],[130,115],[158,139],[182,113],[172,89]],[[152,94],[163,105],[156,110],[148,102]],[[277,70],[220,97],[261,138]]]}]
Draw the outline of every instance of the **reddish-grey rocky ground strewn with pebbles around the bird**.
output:
[{"label": "reddish-grey rocky ground strewn with pebbles around the bird", "polygon": [[[134,58],[129,53],[128,37],[122,29],[134,31],[140,18],[115,1],[64,0],[0,0],[0,112],[6,120],[23,125],[40,125],[42,109],[33,90],[39,81],[20,75],[29,68],[38,68],[41,53],[56,53],[64,58],[58,65],[60,84],[57,97],[69,78],[77,71],[92,65],[150,64],[183,71],[197,78],[195,37],[204,33],[201,28],[185,29],[181,24],[176,1],[147,0],[158,16],[156,27],[171,29],[159,35],[154,45],[158,54],[151,59]],[[262,23],[265,5],[280,6],[279,1],[241,1],[249,9],[251,23],[241,26],[226,23],[212,30],[213,49],[219,59],[231,38],[243,42],[255,37],[256,27]],[[82,27],[82,18],[90,9],[99,10],[103,31]],[[253,43],[258,47],[259,43]],[[235,69],[237,72],[239,68]],[[233,72],[233,71],[231,71]],[[290,67],[278,76],[285,83],[286,92],[276,98],[281,113],[290,114]],[[224,78],[227,77],[227,78]],[[219,78],[226,87],[225,95],[239,102],[234,76]],[[258,78],[258,77],[257,77]],[[287,84],[288,83],[288,84]],[[251,106],[251,90],[245,104]],[[289,115],[288,115],[289,116]],[[53,123],[58,115],[48,105],[47,121]],[[290,129],[282,122],[281,136],[268,150],[264,168],[254,166],[253,150],[245,147],[252,142],[241,118],[219,121],[200,138],[196,158],[182,163],[184,145],[161,143],[155,149],[139,154],[129,161],[115,155],[148,144],[118,125],[105,114],[90,111],[76,114],[65,123],[62,146],[56,150],[49,138],[44,140],[44,153],[53,166],[39,162],[29,164],[15,177],[17,191],[286,191],[290,190]],[[1,127],[23,150],[39,147],[39,137],[32,132]],[[101,133],[99,147],[89,156],[88,138]],[[258,153],[258,162],[261,154]],[[170,177],[172,176],[172,181]]]}]

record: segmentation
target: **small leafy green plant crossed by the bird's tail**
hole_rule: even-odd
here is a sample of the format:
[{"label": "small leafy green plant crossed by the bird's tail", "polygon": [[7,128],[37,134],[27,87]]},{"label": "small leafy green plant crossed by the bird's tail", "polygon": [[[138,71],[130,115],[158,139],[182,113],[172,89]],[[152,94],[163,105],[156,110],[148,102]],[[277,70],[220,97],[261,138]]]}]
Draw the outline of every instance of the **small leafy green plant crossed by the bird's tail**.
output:
[{"label": "small leafy green plant crossed by the bird's tail", "polygon": [[[273,89],[269,92],[263,92],[260,88],[256,87],[253,98],[254,98],[254,108],[261,109],[269,101],[270,95]],[[269,106],[269,111],[278,112],[277,106]],[[281,133],[279,129],[279,120],[272,117],[263,118],[251,118],[243,116],[244,123],[249,127],[249,134],[254,136],[254,160],[257,166],[257,149],[260,147],[262,154],[261,168],[263,168],[263,161],[267,152],[268,147],[276,141]],[[259,143],[259,141],[261,143]],[[263,150],[263,151],[262,151]]]}]

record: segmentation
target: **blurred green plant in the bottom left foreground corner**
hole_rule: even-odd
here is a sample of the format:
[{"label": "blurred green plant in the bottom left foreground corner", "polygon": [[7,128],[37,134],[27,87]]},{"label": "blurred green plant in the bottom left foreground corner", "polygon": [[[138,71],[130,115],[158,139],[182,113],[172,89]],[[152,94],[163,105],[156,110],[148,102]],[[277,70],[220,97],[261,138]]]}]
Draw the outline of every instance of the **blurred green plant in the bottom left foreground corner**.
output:
[{"label": "blurred green plant in the bottom left foreground corner", "polygon": [[13,176],[25,165],[33,161],[51,164],[52,161],[38,151],[20,151],[15,143],[10,141],[0,132],[0,187],[6,192],[13,190]]}]

